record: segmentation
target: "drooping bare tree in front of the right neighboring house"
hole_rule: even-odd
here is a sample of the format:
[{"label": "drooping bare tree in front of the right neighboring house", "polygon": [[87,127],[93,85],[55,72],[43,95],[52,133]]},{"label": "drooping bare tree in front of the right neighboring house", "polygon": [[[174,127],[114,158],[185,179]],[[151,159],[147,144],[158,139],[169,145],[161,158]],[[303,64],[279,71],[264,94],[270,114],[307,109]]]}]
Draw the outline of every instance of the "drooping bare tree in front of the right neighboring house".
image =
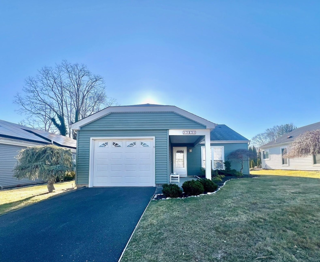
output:
[{"label": "drooping bare tree in front of the right neighboring house", "polygon": [[320,154],[320,129],[306,131],[298,136],[288,147],[285,158]]}]

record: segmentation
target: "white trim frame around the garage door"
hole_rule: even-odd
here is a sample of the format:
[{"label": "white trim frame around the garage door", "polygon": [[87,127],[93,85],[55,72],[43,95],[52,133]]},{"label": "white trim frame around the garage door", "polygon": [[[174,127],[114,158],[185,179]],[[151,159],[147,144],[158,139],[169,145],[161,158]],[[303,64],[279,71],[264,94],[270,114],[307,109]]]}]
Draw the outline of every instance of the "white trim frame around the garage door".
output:
[{"label": "white trim frame around the garage door", "polygon": [[89,149],[89,184],[93,187],[93,157],[94,157],[94,141],[95,140],[122,140],[122,139],[153,139],[153,186],[156,186],[156,137],[91,137]]}]

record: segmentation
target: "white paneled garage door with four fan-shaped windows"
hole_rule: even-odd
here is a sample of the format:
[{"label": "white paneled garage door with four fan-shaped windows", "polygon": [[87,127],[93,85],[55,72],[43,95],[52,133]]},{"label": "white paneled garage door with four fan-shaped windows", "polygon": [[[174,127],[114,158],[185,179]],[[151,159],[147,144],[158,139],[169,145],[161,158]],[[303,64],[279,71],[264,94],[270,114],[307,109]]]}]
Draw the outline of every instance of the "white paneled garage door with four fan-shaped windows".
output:
[{"label": "white paneled garage door with four fan-shaped windows", "polygon": [[154,186],[153,139],[94,140],[93,186]]}]

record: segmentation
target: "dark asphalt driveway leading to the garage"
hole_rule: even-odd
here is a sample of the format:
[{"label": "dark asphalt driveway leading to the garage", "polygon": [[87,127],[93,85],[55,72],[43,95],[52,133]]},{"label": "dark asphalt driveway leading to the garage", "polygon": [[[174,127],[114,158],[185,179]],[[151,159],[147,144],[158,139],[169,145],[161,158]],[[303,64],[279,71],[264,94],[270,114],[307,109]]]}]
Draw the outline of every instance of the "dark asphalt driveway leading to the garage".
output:
[{"label": "dark asphalt driveway leading to the garage", "polygon": [[0,216],[0,261],[118,261],[155,189],[85,188]]}]

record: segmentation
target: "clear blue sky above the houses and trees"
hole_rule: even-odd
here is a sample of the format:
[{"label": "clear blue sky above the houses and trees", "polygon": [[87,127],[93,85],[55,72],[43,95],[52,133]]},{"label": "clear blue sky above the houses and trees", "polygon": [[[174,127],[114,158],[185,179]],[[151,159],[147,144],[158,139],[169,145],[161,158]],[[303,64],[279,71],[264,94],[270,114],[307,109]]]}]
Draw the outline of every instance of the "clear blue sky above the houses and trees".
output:
[{"label": "clear blue sky above the houses and trees", "polygon": [[175,105],[248,139],[320,121],[320,1],[0,3],[0,119],[24,79],[61,60],[121,105]]}]

